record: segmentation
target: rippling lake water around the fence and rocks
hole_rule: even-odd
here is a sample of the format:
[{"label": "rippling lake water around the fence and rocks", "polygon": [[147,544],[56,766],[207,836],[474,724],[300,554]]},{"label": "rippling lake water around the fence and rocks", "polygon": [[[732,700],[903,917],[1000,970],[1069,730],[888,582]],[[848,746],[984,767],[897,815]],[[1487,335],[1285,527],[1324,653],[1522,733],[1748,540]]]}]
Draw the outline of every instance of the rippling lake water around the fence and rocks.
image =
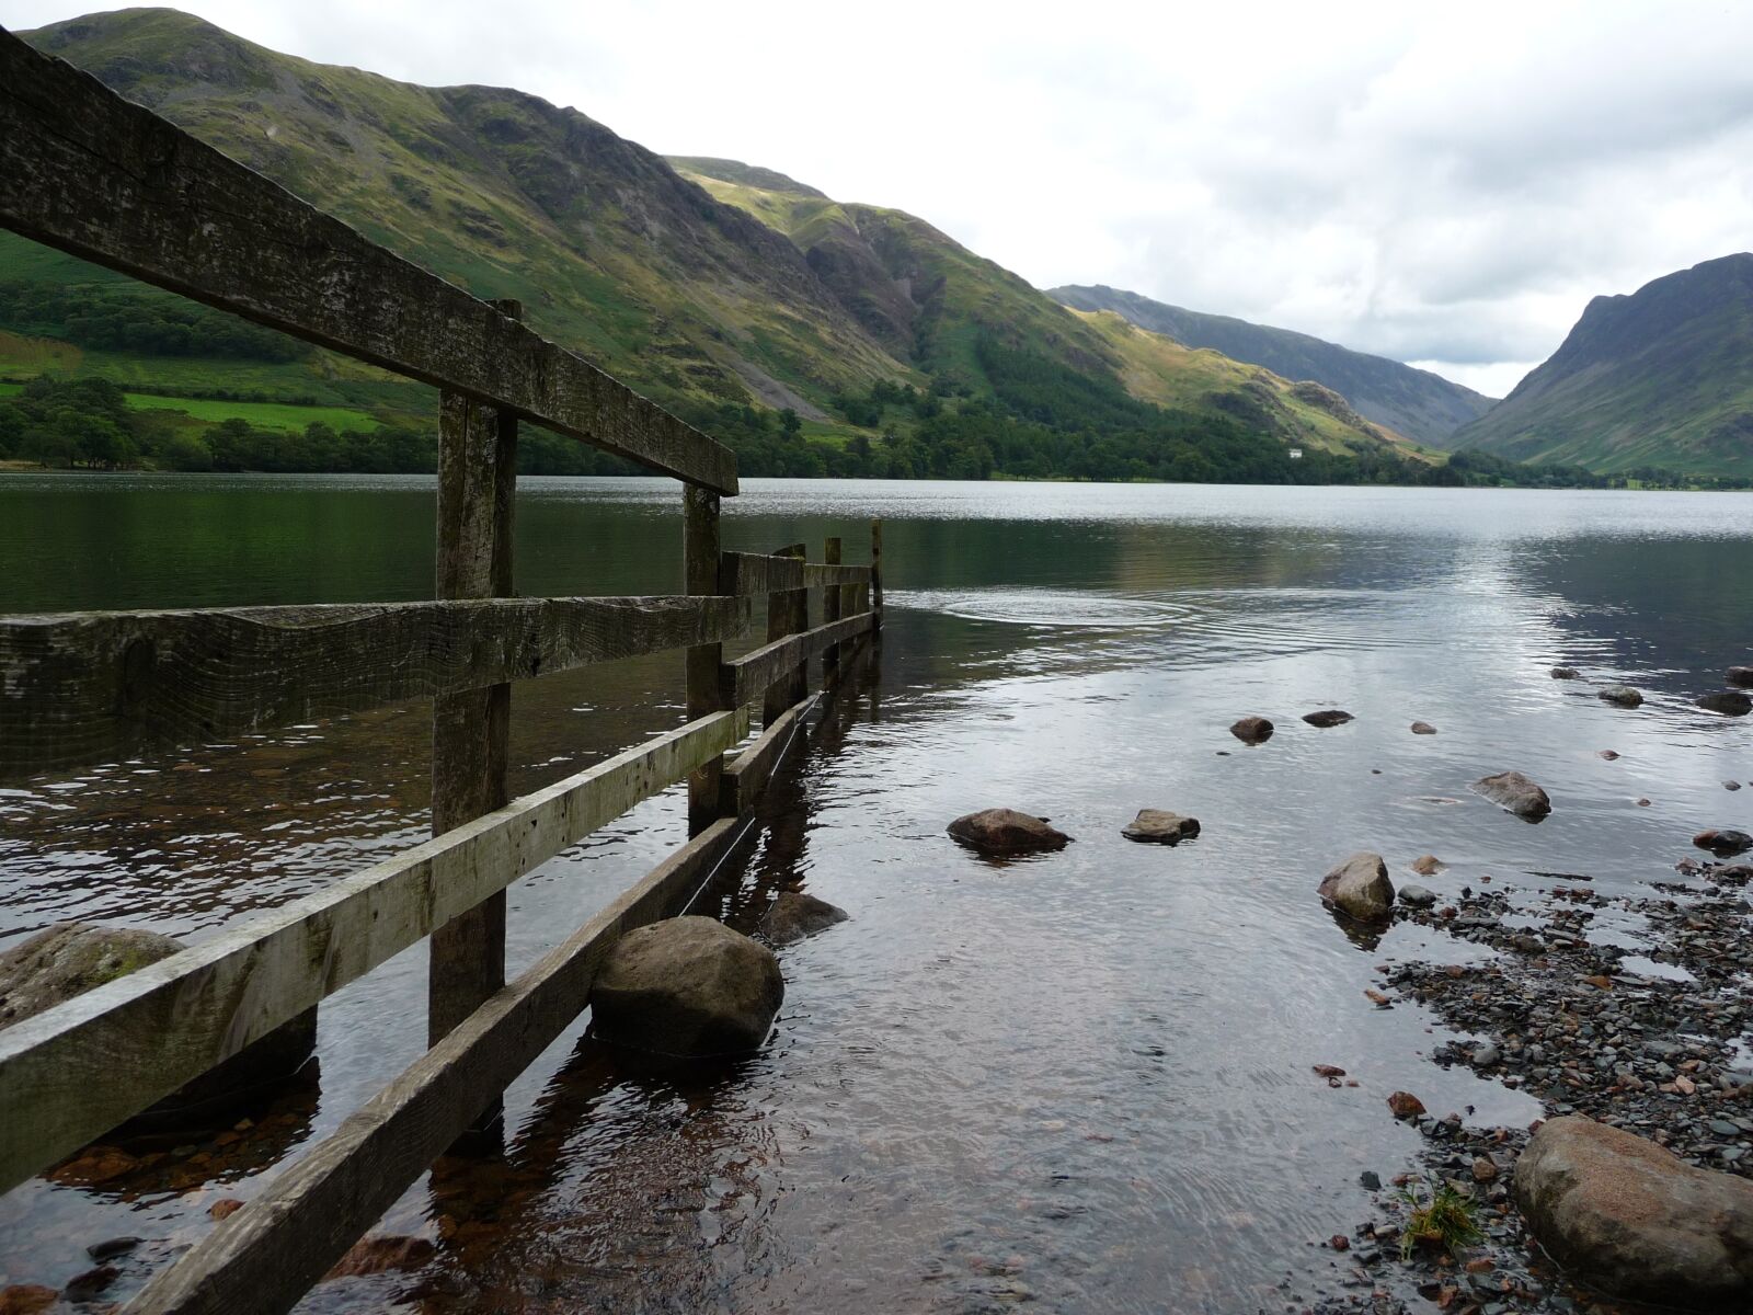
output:
[{"label": "rippling lake water around the fence and rocks", "polygon": [[[528,480],[519,589],[675,589],[678,503]],[[1753,780],[1753,728],[1690,707],[1753,661],[1744,494],[750,480],[726,510],[727,547],[841,533],[848,559],[887,522],[880,670],[703,901],[747,926],[801,885],[852,920],[782,952],[775,1043],[710,1084],[621,1075],[575,1026],[508,1094],[507,1161],[447,1166],[384,1222],[436,1257],[309,1310],[1281,1310],[1338,1273],[1309,1243],[1371,1217],[1359,1173],[1413,1162],[1385,1092],[1536,1113],[1430,1064],[1448,1033],[1415,1005],[1362,994],[1392,957],[1485,950],[1353,943],[1320,875],[1374,849],[1408,878],[1436,852],[1437,891],[1623,892],[1704,826],[1753,829],[1753,789],[1721,784]],[[431,491],[0,477],[0,610],[419,598]],[[1599,703],[1609,680],[1650,701]],[[514,787],[677,724],[678,693],[678,658],[519,686]],[[1320,707],[1357,721],[1297,721]],[[1243,714],[1278,735],[1245,749]],[[200,936],[331,882],[422,835],[426,733],[415,707],[5,793],[0,943],[75,915]],[[1467,791],[1506,768],[1551,819]],[[1078,843],[1003,868],[957,850],[945,822],[992,803]],[[1204,833],[1131,845],[1139,807]],[[670,793],[517,884],[514,964],[680,835]],[[319,1091],[235,1140],[0,1199],[0,1283],[63,1283],[84,1245],[137,1234],[114,1292],[137,1287],[419,1052],[424,968],[417,947],[330,999]]]}]

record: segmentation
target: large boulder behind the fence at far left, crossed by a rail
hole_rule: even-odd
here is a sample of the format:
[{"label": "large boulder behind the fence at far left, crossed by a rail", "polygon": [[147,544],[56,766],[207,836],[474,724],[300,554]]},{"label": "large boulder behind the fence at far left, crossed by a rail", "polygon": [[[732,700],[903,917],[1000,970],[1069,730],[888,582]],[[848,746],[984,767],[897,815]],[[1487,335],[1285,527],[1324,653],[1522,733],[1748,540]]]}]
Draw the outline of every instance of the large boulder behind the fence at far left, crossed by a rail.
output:
[{"label": "large boulder behind the fence at far left, crossed by a rail", "polygon": [[[181,949],[181,942],[142,928],[56,922],[0,954],[0,1027],[168,959]],[[310,1008],[144,1110],[137,1122],[175,1126],[233,1105],[295,1075],[316,1043],[317,1012]]]}]

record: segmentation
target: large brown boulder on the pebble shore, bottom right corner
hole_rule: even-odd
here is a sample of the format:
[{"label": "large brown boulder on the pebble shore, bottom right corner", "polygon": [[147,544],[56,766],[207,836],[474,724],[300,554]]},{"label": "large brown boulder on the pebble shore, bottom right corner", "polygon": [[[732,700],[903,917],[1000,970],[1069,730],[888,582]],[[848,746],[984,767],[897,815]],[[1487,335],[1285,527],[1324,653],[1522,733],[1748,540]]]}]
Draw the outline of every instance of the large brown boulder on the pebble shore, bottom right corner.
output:
[{"label": "large brown boulder on the pebble shore, bottom right corner", "polygon": [[1593,1287],[1688,1310],[1753,1310],[1746,1178],[1567,1115],[1529,1141],[1515,1194],[1539,1243]]}]

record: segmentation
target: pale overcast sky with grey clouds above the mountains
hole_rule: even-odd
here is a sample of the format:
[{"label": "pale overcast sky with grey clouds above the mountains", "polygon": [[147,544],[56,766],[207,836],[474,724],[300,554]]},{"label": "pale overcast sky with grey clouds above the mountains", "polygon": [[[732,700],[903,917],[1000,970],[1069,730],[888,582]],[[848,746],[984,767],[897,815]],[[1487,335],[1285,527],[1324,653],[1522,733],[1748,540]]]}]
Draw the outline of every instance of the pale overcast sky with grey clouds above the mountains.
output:
[{"label": "pale overcast sky with grey clouds above the mountains", "polygon": [[[1590,296],[1753,247],[1739,0],[184,7],[901,207],[1040,288],[1129,288],[1494,394]],[[16,28],[79,12],[0,0]]]}]

